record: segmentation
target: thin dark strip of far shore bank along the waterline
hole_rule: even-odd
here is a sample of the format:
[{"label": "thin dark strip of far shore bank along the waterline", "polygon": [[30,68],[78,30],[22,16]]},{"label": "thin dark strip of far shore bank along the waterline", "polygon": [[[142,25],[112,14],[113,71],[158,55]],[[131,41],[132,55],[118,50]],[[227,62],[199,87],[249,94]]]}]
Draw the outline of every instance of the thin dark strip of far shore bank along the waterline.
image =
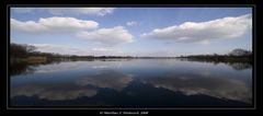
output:
[{"label": "thin dark strip of far shore bank along the waterline", "polygon": [[100,56],[100,57],[45,57],[30,56],[26,58],[10,58],[10,62],[28,62],[41,63],[48,61],[75,61],[75,60],[107,60],[107,59],[180,59],[188,61],[207,61],[207,62],[249,62],[252,63],[252,56],[185,56],[185,57],[121,57],[121,56]]}]

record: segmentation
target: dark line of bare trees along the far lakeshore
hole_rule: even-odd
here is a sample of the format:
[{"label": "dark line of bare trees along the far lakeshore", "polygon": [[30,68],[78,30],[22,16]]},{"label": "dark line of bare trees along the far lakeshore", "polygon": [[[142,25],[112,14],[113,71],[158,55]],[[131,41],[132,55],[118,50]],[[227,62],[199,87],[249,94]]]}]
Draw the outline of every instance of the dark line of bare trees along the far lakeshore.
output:
[{"label": "dark line of bare trees along the far lakeshore", "polygon": [[77,56],[77,55],[60,55],[54,53],[41,53],[36,50],[36,47],[33,45],[26,44],[10,44],[10,57],[11,59],[23,59],[28,57],[45,57],[45,58],[64,58],[64,59],[105,59],[105,58],[188,58],[196,60],[215,60],[215,61],[224,61],[224,60],[244,60],[252,61],[252,51],[245,49],[233,49],[229,54],[226,55],[190,55],[190,56],[181,56],[181,57],[132,57],[132,56]]}]

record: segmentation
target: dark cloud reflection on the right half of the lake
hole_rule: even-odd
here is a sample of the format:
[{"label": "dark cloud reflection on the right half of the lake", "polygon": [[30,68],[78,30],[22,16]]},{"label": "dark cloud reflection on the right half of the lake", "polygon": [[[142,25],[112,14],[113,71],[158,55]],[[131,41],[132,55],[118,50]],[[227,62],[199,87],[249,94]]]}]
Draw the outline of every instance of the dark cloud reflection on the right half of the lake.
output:
[{"label": "dark cloud reflection on the right half of the lake", "polygon": [[144,83],[163,88],[186,95],[209,95],[251,103],[251,89],[243,81],[226,77],[208,77],[209,74],[168,73],[161,77],[145,78]]}]

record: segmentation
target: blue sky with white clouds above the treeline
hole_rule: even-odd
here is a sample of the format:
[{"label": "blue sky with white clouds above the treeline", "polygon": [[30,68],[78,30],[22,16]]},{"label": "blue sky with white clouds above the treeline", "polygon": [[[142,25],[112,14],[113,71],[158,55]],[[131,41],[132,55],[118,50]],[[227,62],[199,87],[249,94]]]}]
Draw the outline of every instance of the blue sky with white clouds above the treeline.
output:
[{"label": "blue sky with white clouds above the treeline", "polygon": [[252,49],[252,8],[11,8],[11,43],[73,55]]}]

